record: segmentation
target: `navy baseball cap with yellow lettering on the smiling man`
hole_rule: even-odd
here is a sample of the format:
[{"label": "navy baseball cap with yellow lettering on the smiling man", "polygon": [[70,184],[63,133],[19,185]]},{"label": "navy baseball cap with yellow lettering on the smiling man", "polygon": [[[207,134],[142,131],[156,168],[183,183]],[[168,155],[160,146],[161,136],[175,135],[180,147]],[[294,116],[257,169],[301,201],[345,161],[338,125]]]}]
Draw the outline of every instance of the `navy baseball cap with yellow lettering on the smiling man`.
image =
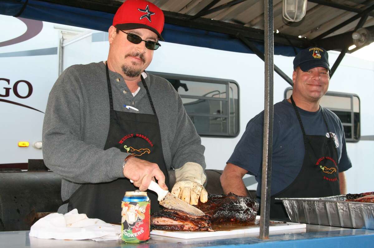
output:
[{"label": "navy baseball cap with yellow lettering on the smiling man", "polygon": [[308,47],[301,50],[294,59],[294,69],[297,66],[300,66],[300,69],[304,72],[321,66],[328,69],[329,73],[331,73],[328,63],[328,53],[322,47]]}]

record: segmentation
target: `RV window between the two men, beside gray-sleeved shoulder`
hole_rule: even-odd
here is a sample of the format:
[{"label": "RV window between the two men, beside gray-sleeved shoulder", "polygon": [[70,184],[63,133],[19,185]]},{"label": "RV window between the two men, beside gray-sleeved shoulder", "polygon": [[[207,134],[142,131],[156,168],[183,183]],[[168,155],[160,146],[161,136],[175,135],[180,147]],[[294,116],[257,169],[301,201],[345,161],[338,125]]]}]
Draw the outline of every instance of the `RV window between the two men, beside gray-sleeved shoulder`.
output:
[{"label": "RV window between the two men, beside gray-sleeved shoulder", "polygon": [[239,134],[239,87],[235,81],[150,73],[166,78],[173,85],[200,136],[235,137]]}]

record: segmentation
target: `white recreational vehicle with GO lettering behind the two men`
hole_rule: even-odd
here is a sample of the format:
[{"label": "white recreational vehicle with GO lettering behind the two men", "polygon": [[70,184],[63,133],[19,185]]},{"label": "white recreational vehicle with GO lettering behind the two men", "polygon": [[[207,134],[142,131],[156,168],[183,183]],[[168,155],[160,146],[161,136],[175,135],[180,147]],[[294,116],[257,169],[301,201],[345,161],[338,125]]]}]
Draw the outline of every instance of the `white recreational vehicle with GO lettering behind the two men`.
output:
[{"label": "white recreational vehicle with GO lettering behind the two men", "polygon": [[[0,27],[5,35],[0,43],[0,164],[27,169],[28,159],[43,158],[43,117],[54,82],[71,65],[105,61],[108,33],[11,16],[0,16],[0,22],[6,23]],[[28,39],[15,39],[38,28],[40,32]],[[338,55],[329,51],[331,65]],[[274,62],[291,77],[293,59],[276,55]],[[223,170],[246,123],[264,109],[263,61],[255,54],[164,42],[147,71],[174,85],[202,136],[207,169]],[[291,92],[275,74],[274,103]],[[348,192],[371,191],[373,94],[374,62],[346,55],[321,103],[344,126],[353,164],[346,172]],[[257,188],[253,176],[244,181],[248,189]]]}]

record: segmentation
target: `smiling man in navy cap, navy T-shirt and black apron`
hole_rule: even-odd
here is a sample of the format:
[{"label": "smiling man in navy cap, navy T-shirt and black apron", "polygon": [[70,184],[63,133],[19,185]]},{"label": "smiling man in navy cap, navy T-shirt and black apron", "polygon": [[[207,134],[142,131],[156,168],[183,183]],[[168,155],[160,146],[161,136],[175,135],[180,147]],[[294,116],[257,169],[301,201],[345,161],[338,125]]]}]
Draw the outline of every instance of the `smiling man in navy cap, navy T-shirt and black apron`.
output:
[{"label": "smiling man in navy cap, navy T-shirt and black apron", "polygon": [[[330,79],[328,54],[309,47],[294,59],[292,95],[274,105],[270,217],[288,217],[282,197],[327,197],[346,194],[344,171],[352,167],[343,125],[319,105]],[[263,148],[261,112],[251,119],[227,161],[221,184],[227,194],[246,195],[245,174],[254,175],[261,196]]]}]

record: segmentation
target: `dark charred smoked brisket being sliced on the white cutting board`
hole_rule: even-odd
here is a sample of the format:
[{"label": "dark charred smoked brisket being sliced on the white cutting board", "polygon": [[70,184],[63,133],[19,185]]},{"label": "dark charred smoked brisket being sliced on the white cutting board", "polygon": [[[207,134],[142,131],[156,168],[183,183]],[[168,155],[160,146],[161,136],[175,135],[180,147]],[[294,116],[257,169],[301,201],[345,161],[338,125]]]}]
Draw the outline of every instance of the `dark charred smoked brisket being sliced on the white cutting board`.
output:
[{"label": "dark charred smoked brisket being sliced on the white cutting board", "polygon": [[208,201],[196,206],[205,216],[191,216],[174,209],[163,209],[151,216],[151,229],[212,230],[211,224],[248,223],[256,219],[258,203],[251,197],[235,194],[208,195]]}]

